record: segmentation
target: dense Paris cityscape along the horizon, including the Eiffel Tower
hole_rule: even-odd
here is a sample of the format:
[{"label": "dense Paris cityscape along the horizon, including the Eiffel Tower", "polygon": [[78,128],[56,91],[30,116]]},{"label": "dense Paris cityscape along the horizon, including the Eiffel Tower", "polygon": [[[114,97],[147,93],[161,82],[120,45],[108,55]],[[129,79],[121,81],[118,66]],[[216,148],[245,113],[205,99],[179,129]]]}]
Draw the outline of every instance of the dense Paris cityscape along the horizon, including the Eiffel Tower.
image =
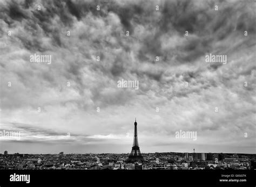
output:
[{"label": "dense Paris cityscape along the horizon, including the Eiffel Tower", "polygon": [[0,154],[0,169],[201,170],[255,169],[256,154],[140,153],[137,121],[130,154]]}]

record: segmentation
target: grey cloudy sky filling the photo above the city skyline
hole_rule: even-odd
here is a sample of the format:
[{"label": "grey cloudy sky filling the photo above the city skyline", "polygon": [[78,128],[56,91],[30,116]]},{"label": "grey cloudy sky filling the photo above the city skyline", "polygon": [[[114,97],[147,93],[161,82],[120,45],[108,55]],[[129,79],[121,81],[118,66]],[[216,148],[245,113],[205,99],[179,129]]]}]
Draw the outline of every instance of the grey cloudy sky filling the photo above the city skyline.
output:
[{"label": "grey cloudy sky filling the photo above the city skyline", "polygon": [[[0,137],[0,152],[129,153],[136,117],[142,153],[255,153],[255,9],[0,0],[0,131],[21,133]],[[210,53],[227,63],[206,62]],[[51,64],[31,63],[33,54]],[[139,89],[118,88],[122,79]],[[197,140],[177,139],[180,130]]]}]

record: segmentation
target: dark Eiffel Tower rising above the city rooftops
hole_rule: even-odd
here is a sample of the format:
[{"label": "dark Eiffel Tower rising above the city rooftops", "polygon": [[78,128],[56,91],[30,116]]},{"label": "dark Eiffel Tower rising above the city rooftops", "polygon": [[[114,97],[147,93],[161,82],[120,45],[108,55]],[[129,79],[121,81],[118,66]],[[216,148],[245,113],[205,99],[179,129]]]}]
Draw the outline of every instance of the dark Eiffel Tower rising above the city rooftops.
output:
[{"label": "dark Eiffel Tower rising above the city rooftops", "polygon": [[135,118],[134,122],[134,138],[133,138],[133,146],[130,156],[127,159],[127,162],[143,162],[143,156],[139,150],[139,142],[138,142],[138,133],[137,133],[137,122]]}]

